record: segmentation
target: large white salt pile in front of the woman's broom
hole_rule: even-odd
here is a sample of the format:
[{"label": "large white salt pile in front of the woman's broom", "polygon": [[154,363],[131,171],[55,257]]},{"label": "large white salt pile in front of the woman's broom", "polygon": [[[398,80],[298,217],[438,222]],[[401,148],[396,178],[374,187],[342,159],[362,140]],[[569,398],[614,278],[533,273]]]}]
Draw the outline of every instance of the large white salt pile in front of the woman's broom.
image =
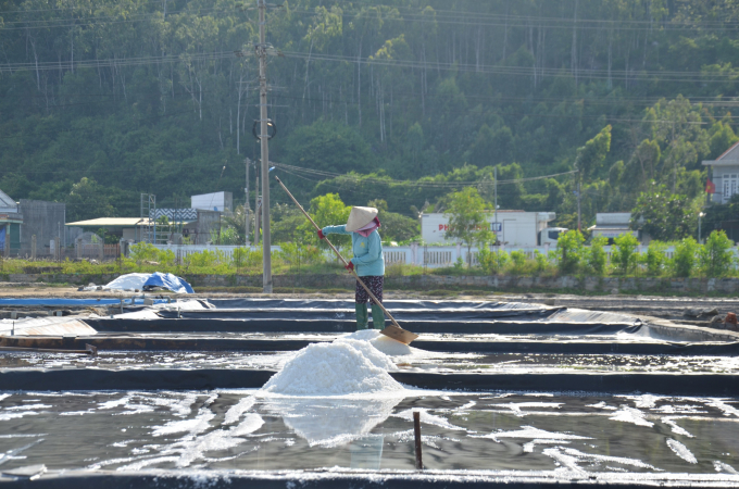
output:
[{"label": "large white salt pile in front of the woman's broom", "polygon": [[394,365],[366,341],[345,339],[310,344],[287,362],[262,390],[291,396],[399,392],[387,373]]}]

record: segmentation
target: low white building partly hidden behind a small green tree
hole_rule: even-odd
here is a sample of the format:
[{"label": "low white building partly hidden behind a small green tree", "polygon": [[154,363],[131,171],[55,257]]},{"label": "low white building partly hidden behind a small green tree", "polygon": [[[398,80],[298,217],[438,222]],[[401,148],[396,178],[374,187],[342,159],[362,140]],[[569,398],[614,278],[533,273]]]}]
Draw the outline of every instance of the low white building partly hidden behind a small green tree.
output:
[{"label": "low white building partly hidden behind a small green tree", "polygon": [[[556,215],[553,212],[524,212],[524,211],[498,211],[488,212],[487,221],[490,223],[490,230],[496,233],[498,240],[506,246],[515,247],[536,247],[541,244],[540,233],[548,229],[548,223],[554,221]],[[449,217],[442,213],[430,213],[421,215],[421,237],[427,243],[449,242],[447,231],[449,230]],[[556,229],[559,231],[561,229]],[[559,233],[556,233],[559,236]],[[548,239],[548,234],[546,235]],[[554,238],[556,242],[556,238]]]}]

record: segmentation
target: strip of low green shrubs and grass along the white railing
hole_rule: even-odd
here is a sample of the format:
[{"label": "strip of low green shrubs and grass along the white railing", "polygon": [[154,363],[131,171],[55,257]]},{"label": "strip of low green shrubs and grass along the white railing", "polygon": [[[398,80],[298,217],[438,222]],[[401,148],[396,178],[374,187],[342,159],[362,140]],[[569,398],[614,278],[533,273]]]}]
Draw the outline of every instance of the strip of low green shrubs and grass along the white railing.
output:
[{"label": "strip of low green shrubs and grass along the white railing", "polygon": [[[471,238],[472,239],[472,238]],[[388,277],[409,275],[517,275],[517,276],[616,276],[616,277],[739,277],[739,262],[734,253],[734,242],[724,231],[712,231],[704,244],[692,237],[674,242],[652,241],[639,246],[631,235],[615,239],[611,253],[605,251],[606,240],[594,238],[585,246],[577,230],[560,236],[555,249],[544,254],[521,250],[499,250],[487,242],[469,262],[459,260],[444,268],[428,268],[403,263],[389,263]],[[674,247],[672,252],[667,249]],[[345,253],[349,250],[345,250]],[[231,255],[220,250],[204,250],[177,258],[171,250],[159,250],[149,243],[131,247],[128,258],[92,263],[87,260],[62,262],[10,259],[0,261],[0,275],[9,274],[78,274],[103,275],[126,273],[168,272],[176,275],[260,275],[261,248],[236,248]],[[348,254],[348,253],[347,253]],[[273,273],[283,274],[341,274],[343,267],[325,250],[311,243],[284,243],[273,251]]]}]

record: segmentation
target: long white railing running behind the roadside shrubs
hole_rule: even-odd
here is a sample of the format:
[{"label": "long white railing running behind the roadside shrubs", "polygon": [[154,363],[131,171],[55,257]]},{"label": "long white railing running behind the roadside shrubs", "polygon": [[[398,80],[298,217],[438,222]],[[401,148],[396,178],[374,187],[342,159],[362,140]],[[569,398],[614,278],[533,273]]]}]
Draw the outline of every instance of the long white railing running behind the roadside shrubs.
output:
[{"label": "long white railing running behind the roadside shrubs", "polygon": [[[214,244],[155,244],[155,247],[160,250],[172,250],[175,255],[177,256],[178,260],[184,259],[185,256],[192,254],[192,253],[200,253],[204,250],[208,251],[221,251],[225,258],[231,260],[234,256],[234,250],[237,248],[243,248],[239,246],[214,246]],[[255,247],[249,247],[251,251],[258,250]],[[637,252],[638,253],[646,253],[648,249],[648,246],[641,244],[637,247]],[[555,246],[543,246],[543,247],[491,247],[491,251],[505,251],[506,253],[510,253],[512,251],[523,251],[526,254],[526,258],[529,260],[533,260],[536,252],[538,251],[541,254],[548,254],[549,251],[555,251],[556,247]],[[278,244],[275,244],[272,247],[272,251],[278,252],[280,251],[280,247]],[[603,251],[605,251],[605,255],[608,258],[609,263],[611,262],[611,258],[613,253],[615,252],[615,247],[603,247]],[[735,256],[739,254],[737,248],[731,249],[732,253]],[[472,264],[473,265],[478,265],[478,248],[473,247],[471,249],[472,253]],[[383,249],[383,254],[385,256],[385,264],[386,265],[392,265],[392,264],[406,264],[406,265],[418,265],[418,266],[425,266],[428,268],[441,268],[441,267],[447,267],[447,266],[452,266],[456,262],[459,258],[462,258],[464,263],[467,263],[467,247],[465,247],[462,243],[459,243],[456,246],[421,246],[421,244],[411,244],[411,246],[404,246],[404,247],[384,247]],[[675,254],[675,247],[667,247],[665,249],[665,255],[668,259],[672,259],[673,255]],[[326,256],[326,260],[336,260],[334,256],[333,252],[328,249],[324,250],[324,255]],[[346,256],[349,258],[349,256]]]}]

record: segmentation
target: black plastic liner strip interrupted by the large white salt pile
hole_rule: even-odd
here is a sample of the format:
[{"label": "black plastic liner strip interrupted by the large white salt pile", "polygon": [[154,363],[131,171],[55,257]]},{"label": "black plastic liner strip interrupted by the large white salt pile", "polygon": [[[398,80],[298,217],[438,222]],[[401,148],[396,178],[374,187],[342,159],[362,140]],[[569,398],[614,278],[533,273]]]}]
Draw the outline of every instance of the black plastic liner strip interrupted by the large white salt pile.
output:
[{"label": "black plastic liner strip interrupted by the large white salt pile", "polygon": [[[275,374],[252,369],[102,368],[0,372],[3,390],[210,390],[261,388]],[[724,374],[430,374],[391,372],[421,389],[468,391],[649,392],[663,396],[736,396],[739,376]]]}]

